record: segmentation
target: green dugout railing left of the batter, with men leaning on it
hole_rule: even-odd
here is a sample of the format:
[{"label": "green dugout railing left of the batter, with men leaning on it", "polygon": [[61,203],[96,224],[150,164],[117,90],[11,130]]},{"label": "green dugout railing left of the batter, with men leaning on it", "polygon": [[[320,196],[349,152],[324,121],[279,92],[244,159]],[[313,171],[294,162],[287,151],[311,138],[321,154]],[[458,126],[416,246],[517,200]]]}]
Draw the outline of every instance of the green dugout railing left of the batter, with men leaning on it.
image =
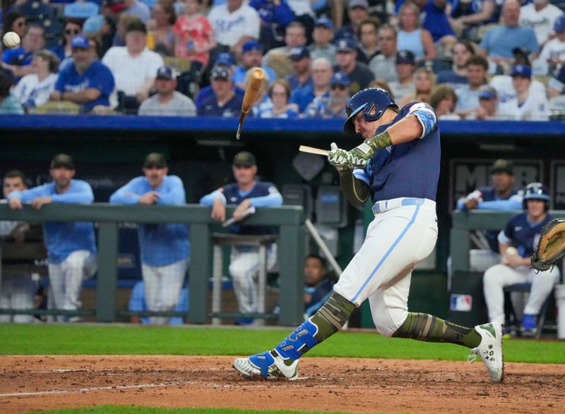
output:
[{"label": "green dugout railing left of the batter, with men leaning on it", "polygon": [[[227,207],[230,216],[234,207]],[[114,322],[119,315],[116,308],[118,282],[119,223],[137,224],[183,223],[190,226],[191,264],[189,269],[189,322],[205,324],[210,317],[208,284],[212,276],[210,235],[218,224],[210,218],[210,207],[51,204],[39,211],[25,205],[13,210],[0,205],[0,220],[27,221],[93,221],[97,226],[97,279],[94,312],[57,311],[58,315],[93,315],[97,322]],[[296,325],[302,322],[303,286],[302,266],[305,257],[304,212],[302,207],[281,206],[258,209],[246,219],[246,224],[278,227],[278,260],[280,262],[280,314],[281,325]],[[32,312],[32,311],[30,311]],[[0,314],[13,314],[13,310],[2,310]],[[141,315],[148,315],[147,312]],[[169,315],[169,314],[163,314]],[[171,312],[172,315],[172,312]],[[175,313],[176,315],[176,313]]]}]

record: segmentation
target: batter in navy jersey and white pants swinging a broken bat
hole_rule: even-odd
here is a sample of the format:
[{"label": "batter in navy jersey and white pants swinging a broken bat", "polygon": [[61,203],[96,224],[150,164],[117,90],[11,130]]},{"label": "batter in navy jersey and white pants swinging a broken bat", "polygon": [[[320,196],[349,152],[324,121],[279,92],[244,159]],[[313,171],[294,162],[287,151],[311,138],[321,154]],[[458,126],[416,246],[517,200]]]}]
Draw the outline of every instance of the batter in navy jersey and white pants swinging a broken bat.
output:
[{"label": "batter in navy jersey and white pants swinging a broken bat", "polygon": [[350,151],[331,145],[330,164],[352,205],[371,197],[374,220],[364,243],[347,265],[321,309],[272,351],[237,358],[247,376],[297,379],[299,358],[335,334],[356,307],[369,299],[380,334],[419,341],[451,342],[480,355],[491,382],[502,382],[502,326],[499,322],[461,327],[424,313],[408,312],[410,277],[434,249],[440,142],[431,106],[412,102],[401,109],[388,92],[371,87],[347,103],[343,131],[358,133]]}]

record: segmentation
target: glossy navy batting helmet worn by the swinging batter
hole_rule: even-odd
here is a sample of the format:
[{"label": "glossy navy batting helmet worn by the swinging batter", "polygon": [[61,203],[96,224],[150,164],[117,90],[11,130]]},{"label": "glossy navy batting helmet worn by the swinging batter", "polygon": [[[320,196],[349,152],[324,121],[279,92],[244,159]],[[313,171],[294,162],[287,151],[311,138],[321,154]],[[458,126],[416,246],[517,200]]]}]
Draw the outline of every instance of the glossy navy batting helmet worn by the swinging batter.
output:
[{"label": "glossy navy batting helmet worn by the swinging batter", "polygon": [[[343,123],[343,132],[347,135],[353,135],[355,133],[355,126],[353,126],[353,119],[359,111],[363,111],[363,118],[365,121],[372,122],[383,116],[384,111],[387,108],[393,107],[398,109],[398,105],[394,102],[391,95],[388,95],[386,90],[380,87],[369,87],[364,90],[360,90],[355,95],[351,97],[345,111],[347,111],[347,121]],[[371,115],[371,111],[375,110],[375,113]]]}]

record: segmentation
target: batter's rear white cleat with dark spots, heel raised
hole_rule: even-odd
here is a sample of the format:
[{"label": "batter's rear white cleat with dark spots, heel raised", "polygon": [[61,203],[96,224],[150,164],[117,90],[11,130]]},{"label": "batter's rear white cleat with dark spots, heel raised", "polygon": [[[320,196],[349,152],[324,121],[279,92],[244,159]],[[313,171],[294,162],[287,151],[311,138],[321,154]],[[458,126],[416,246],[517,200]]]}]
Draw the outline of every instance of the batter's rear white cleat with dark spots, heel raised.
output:
[{"label": "batter's rear white cleat with dark spots, heel raised", "polygon": [[482,339],[477,348],[472,348],[471,351],[474,355],[469,355],[469,360],[475,360],[477,355],[480,355],[484,366],[487,367],[490,382],[498,384],[504,380],[504,355],[502,353],[504,329],[500,322],[490,322],[477,325],[475,331],[480,334]]}]

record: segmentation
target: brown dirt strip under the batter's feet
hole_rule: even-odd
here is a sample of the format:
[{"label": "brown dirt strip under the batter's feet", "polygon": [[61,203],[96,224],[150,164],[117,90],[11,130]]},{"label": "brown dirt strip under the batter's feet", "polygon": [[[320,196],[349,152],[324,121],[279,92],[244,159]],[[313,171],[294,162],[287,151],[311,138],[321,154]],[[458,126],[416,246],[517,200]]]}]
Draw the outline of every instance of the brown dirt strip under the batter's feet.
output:
[{"label": "brown dirt strip under the batter's feet", "polygon": [[565,365],[304,358],[300,379],[246,379],[233,357],[0,357],[0,413],[115,404],[355,413],[562,413]]}]

